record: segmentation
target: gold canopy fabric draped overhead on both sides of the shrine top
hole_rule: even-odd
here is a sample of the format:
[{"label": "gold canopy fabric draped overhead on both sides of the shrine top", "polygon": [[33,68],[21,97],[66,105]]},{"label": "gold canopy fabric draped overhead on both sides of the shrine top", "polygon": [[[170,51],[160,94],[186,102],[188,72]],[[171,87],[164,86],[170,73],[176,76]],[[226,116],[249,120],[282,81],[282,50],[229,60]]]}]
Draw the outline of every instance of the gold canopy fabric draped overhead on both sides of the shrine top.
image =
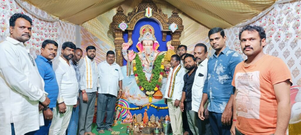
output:
[{"label": "gold canopy fabric draped overhead on both sides of the shrine top", "polygon": [[[73,24],[83,24],[127,0],[25,0],[30,4]],[[135,1],[140,3],[141,0]],[[275,0],[166,0],[207,28],[232,27],[254,17]],[[132,10],[133,7],[131,7]],[[166,13],[165,13],[166,14]]]}]

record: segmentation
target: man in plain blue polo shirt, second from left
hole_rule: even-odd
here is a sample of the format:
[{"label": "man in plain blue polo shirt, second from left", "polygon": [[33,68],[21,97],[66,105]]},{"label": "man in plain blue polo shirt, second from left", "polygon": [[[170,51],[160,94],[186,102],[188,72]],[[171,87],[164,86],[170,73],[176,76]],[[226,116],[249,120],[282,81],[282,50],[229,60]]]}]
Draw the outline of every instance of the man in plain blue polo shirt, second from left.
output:
[{"label": "man in plain blue polo shirt, second from left", "polygon": [[57,55],[57,47],[57,42],[53,40],[45,40],[42,43],[41,55],[38,55],[35,59],[39,73],[44,79],[44,88],[45,92],[48,93],[47,97],[50,99],[50,104],[48,108],[43,109],[44,126],[40,127],[40,129],[37,131],[30,132],[29,134],[48,135],[49,132],[49,127],[51,125],[53,116],[52,108],[56,106],[56,100],[59,91],[51,62],[51,60]]}]

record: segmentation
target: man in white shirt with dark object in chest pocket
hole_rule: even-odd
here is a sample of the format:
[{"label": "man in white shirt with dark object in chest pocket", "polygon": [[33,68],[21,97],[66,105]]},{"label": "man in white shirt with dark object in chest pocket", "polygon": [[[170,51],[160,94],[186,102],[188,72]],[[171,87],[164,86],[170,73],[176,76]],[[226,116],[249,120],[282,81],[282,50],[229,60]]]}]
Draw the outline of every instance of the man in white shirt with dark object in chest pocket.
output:
[{"label": "man in white shirt with dark object in chest pocket", "polygon": [[207,59],[207,46],[204,45],[203,43],[198,43],[194,46],[194,58],[197,61],[197,71],[194,77],[194,82],[192,85],[192,101],[191,101],[191,111],[193,111],[194,114],[191,115],[191,113],[189,113],[191,120],[193,123],[197,123],[198,127],[198,132],[199,134],[206,134],[206,135],[211,135],[211,127],[209,124],[209,112],[206,109],[205,111],[205,115],[207,116],[204,121],[201,121],[200,118],[198,118],[198,111],[200,108],[200,103],[202,100],[202,90],[203,90],[203,86],[206,80],[206,76],[207,76],[207,63],[208,63],[208,59]]}]

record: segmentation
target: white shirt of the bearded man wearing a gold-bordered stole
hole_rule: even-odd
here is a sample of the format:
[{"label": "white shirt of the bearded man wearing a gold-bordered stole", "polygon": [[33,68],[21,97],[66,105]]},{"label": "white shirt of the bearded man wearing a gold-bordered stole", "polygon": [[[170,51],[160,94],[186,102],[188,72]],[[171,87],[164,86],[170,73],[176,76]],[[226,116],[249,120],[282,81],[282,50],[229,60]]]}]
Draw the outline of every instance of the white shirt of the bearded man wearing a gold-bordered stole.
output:
[{"label": "white shirt of the bearded man wearing a gold-bordered stole", "polygon": [[97,68],[94,66],[95,64],[95,60],[93,59],[93,61],[91,61],[89,59],[90,64],[91,64],[91,68],[92,68],[92,77],[93,77],[93,87],[92,89],[87,89],[87,71],[86,71],[86,62],[85,62],[85,59],[82,58],[80,61],[79,61],[79,74],[80,74],[80,81],[79,81],[79,85],[80,85],[80,90],[84,90],[87,92],[87,93],[92,93],[92,92],[95,92],[97,91],[97,86],[98,86],[98,74],[97,74]]}]

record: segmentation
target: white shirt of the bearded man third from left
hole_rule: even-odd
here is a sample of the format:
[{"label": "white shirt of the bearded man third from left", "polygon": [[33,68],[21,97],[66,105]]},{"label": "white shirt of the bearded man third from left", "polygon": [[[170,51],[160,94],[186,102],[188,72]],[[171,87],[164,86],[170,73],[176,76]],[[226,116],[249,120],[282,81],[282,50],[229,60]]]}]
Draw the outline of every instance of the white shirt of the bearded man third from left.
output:
[{"label": "white shirt of the bearded man third from left", "polygon": [[53,70],[59,87],[57,102],[64,101],[66,105],[75,105],[78,95],[78,82],[74,68],[60,56],[53,62]]}]

